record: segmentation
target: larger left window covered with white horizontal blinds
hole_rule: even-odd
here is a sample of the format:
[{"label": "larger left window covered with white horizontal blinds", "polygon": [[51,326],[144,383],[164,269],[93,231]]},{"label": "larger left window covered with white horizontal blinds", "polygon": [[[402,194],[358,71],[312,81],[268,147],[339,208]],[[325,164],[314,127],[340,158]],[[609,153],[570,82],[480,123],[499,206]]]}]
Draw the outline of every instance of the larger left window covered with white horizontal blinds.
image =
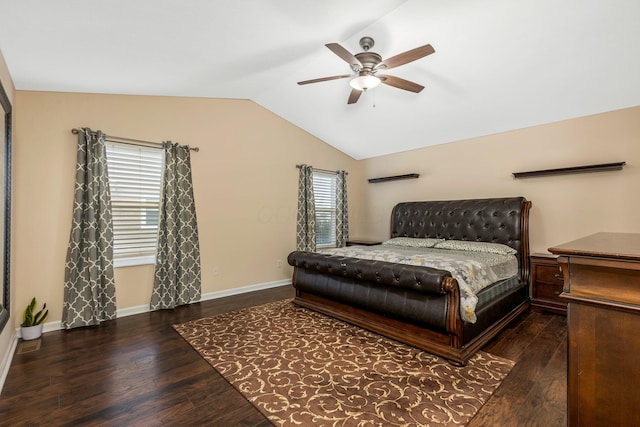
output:
[{"label": "larger left window covered with white horizontal blinds", "polygon": [[114,266],[154,264],[164,152],[107,141]]}]

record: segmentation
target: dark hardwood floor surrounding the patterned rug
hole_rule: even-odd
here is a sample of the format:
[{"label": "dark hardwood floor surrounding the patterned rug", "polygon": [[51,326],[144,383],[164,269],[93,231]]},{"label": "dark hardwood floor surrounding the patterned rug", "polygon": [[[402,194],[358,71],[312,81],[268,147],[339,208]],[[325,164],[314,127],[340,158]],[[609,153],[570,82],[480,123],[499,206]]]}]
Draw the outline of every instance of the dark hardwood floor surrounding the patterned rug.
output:
[{"label": "dark hardwood floor surrounding the patterned rug", "polygon": [[[2,426],[270,426],[172,328],[293,296],[285,286],[20,343],[0,395]],[[516,361],[470,426],[566,424],[566,318],[528,311],[485,351]]]}]

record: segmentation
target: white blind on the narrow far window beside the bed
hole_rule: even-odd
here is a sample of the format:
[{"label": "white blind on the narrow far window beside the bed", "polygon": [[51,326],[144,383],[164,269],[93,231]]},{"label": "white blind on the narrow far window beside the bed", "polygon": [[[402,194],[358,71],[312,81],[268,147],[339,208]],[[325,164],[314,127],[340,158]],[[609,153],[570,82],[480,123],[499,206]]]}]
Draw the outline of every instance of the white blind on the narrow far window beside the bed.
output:
[{"label": "white blind on the narrow far window beside the bed", "polygon": [[336,174],[313,172],[316,247],[336,246]]}]

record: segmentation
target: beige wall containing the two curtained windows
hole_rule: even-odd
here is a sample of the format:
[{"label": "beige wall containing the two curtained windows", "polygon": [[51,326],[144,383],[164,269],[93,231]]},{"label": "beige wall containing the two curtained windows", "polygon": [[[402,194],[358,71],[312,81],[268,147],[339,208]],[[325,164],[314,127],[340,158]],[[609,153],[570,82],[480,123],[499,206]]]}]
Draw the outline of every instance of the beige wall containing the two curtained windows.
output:
[{"label": "beige wall containing the two curtained windows", "polygon": [[[18,91],[16,111],[16,300],[46,301],[49,321],[62,313],[74,127],[200,147],[192,166],[203,293],[290,279],[296,164],[347,170],[350,201],[362,203],[355,160],[251,101]],[[354,214],[356,231],[357,223]],[[152,282],[151,266],[116,269],[118,308],[148,304]]]}]

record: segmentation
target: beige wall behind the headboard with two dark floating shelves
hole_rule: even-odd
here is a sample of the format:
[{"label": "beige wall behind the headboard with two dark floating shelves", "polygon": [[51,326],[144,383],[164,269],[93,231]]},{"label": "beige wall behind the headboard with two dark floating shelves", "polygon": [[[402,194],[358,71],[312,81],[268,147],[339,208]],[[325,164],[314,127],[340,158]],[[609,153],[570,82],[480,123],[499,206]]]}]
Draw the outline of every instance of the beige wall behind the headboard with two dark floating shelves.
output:
[{"label": "beige wall behind the headboard with two dark floating shelves", "polygon": [[[511,175],[617,161],[627,162],[622,171]],[[420,174],[365,187],[360,230],[371,238],[388,237],[389,214],[399,201],[520,195],[533,203],[534,252],[598,231],[640,232],[640,107],[368,159],[361,166],[367,178]]]}]

